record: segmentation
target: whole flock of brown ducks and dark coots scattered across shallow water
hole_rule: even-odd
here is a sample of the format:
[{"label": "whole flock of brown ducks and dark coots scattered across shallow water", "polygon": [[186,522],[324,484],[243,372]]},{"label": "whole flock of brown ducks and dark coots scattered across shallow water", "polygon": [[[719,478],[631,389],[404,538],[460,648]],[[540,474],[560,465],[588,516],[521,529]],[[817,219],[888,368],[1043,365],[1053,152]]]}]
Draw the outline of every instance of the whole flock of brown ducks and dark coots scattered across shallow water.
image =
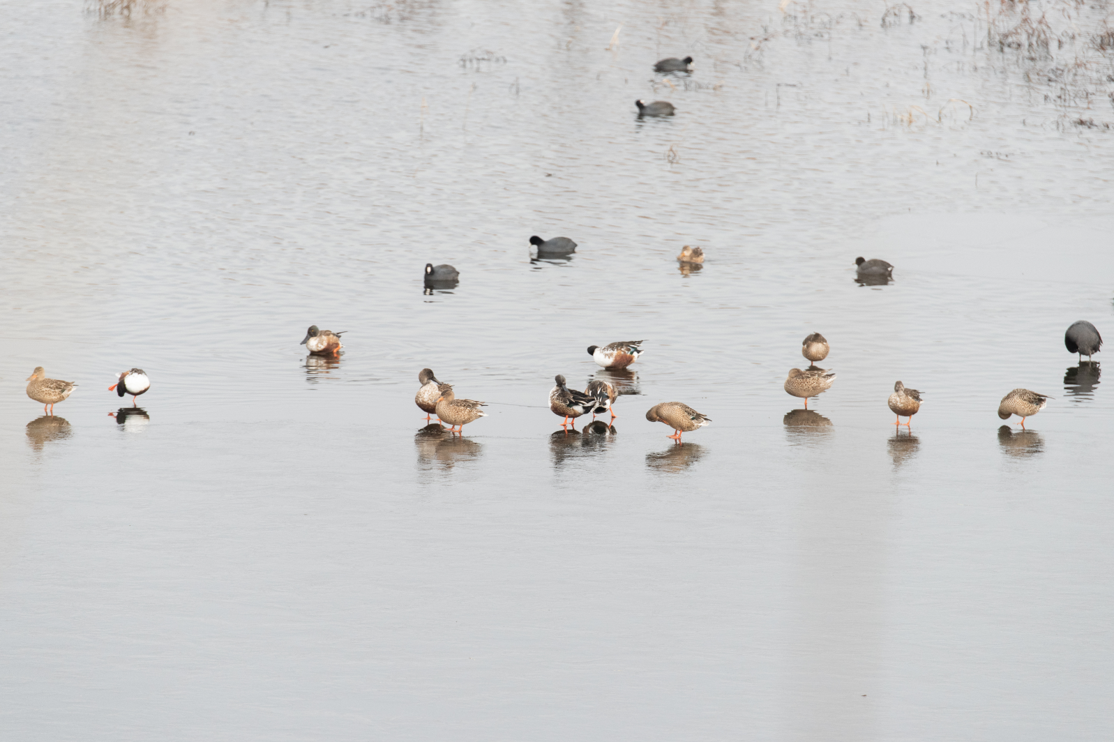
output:
[{"label": "whole flock of brown ducks and dark coots scattered across shallow water", "polygon": [[[693,58],[685,57],[677,59],[670,57],[662,59],[654,65],[656,72],[691,72]],[[673,104],[665,100],[646,102],[636,100],[638,116],[673,116],[675,108]],[[537,248],[539,257],[567,257],[576,252],[576,243],[568,237],[553,237],[543,240],[535,235],[529,240],[530,244]],[[677,261],[682,266],[692,266],[698,270],[704,262],[704,251],[701,247],[685,245],[677,255]],[[862,283],[887,283],[893,276],[893,266],[882,260],[866,260],[857,257],[854,261],[858,280]],[[427,290],[451,289],[460,280],[460,272],[451,265],[426,264],[423,283]],[[335,357],[340,353],[342,332],[321,330],[317,325],[311,325],[302,340],[303,345],[311,355]],[[608,343],[607,345],[592,345],[588,354],[604,369],[622,370],[629,367],[642,355],[642,340],[629,340]],[[1064,344],[1072,353],[1078,353],[1079,359],[1084,355],[1088,361],[1103,344],[1102,335],[1092,323],[1081,320],[1075,322],[1064,333]],[[804,409],[809,408],[809,398],[821,394],[831,389],[836,381],[836,372],[817,367],[818,361],[828,358],[830,346],[828,341],[819,332],[810,334],[801,343],[801,354],[810,362],[808,369],[791,369],[785,378],[785,392],[793,397],[804,399]],[[610,413],[610,421],[617,417],[613,409],[619,392],[616,388],[602,379],[593,380],[585,390],[578,391],[569,389],[568,383],[561,374],[554,378],[556,385],[549,391],[549,409],[554,414],[560,416],[561,426],[574,426],[577,418],[584,414],[592,414],[593,420],[597,414]],[[48,379],[42,367],[38,367],[27,379],[27,396],[37,402],[42,403],[43,412],[53,414],[53,407],[58,402],[67,399],[77,387],[70,381],[60,379]],[[426,420],[430,420],[432,414],[437,414],[439,422],[449,423],[450,432],[463,431],[463,427],[469,422],[475,422],[487,417],[482,410],[483,402],[471,399],[457,399],[452,391],[452,384],[438,381],[430,369],[422,369],[418,374],[421,387],[414,397],[414,402],[426,412]],[[119,397],[131,394],[133,407],[136,398],[146,393],[150,389],[150,379],[143,369],[131,369],[117,374],[116,383],[108,388],[116,391]],[[1045,408],[1048,403],[1048,394],[1040,394],[1028,389],[1014,389],[1001,398],[998,404],[998,417],[1008,420],[1016,414],[1022,418],[1020,426],[1025,428],[1026,418],[1033,417]],[[905,424],[910,427],[912,416],[920,410],[920,392],[916,389],[908,389],[900,381],[895,382],[893,393],[888,399],[889,408],[897,414],[893,424]],[[906,422],[901,422],[901,418]],[[697,412],[683,402],[662,402],[655,404],[646,412],[646,419],[651,422],[663,422],[673,429],[673,438],[681,442],[681,435],[691,432],[697,428],[703,428],[712,421],[707,416]],[[608,422],[608,426],[610,424]]]}]

